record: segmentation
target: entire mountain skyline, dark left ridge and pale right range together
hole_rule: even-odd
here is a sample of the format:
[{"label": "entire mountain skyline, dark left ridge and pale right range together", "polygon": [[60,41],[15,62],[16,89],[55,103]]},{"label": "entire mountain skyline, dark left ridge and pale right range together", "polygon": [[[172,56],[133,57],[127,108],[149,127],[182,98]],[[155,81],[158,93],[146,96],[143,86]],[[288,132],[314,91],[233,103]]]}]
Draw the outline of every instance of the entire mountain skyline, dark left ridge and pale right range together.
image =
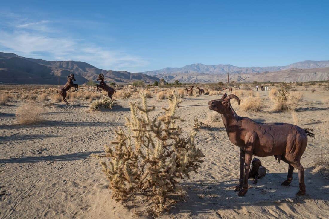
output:
[{"label": "entire mountain skyline, dark left ridge and pale right range together", "polygon": [[102,73],[107,82],[144,81],[153,83],[163,78],[173,83],[236,82],[296,82],[329,80],[329,61],[300,61],[286,66],[237,67],[230,64],[191,64],[181,68],[163,68],[155,71],[131,73],[96,68],[82,61],[45,61],[0,52],[0,83],[64,84],[74,73],[78,84],[95,81]]}]

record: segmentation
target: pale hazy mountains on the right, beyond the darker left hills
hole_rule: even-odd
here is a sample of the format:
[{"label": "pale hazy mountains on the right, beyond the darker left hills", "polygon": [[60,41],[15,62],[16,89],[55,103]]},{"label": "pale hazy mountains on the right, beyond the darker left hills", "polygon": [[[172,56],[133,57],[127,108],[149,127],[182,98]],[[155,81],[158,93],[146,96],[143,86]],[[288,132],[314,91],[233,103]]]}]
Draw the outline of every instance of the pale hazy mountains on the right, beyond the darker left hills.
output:
[{"label": "pale hazy mountains on the right, beyond the darker left hills", "polygon": [[178,80],[182,83],[226,82],[290,82],[329,80],[329,61],[300,61],[286,66],[238,67],[230,64],[191,64],[181,68],[163,68],[141,72],[163,78],[168,82]]}]

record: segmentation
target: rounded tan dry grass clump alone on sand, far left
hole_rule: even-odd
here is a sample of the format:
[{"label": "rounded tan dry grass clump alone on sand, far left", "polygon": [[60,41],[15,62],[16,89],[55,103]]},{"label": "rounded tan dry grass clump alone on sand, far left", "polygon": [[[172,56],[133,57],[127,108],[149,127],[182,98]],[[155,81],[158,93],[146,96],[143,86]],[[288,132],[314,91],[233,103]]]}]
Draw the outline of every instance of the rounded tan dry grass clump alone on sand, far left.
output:
[{"label": "rounded tan dry grass clump alone on sand, far left", "polygon": [[44,108],[37,105],[24,104],[16,109],[16,119],[19,124],[35,124],[44,121]]}]

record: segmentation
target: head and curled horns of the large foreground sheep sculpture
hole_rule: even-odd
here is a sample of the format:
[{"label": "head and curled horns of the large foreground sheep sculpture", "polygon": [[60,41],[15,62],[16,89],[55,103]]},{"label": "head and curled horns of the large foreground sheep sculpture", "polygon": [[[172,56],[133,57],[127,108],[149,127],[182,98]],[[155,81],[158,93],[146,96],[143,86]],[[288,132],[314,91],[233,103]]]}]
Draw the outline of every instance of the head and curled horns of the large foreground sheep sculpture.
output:
[{"label": "head and curled horns of the large foreground sheep sculpture", "polygon": [[208,106],[210,110],[214,110],[220,114],[227,114],[232,110],[230,100],[236,99],[240,105],[240,99],[234,94],[227,95],[224,93],[221,99],[209,101]]}]

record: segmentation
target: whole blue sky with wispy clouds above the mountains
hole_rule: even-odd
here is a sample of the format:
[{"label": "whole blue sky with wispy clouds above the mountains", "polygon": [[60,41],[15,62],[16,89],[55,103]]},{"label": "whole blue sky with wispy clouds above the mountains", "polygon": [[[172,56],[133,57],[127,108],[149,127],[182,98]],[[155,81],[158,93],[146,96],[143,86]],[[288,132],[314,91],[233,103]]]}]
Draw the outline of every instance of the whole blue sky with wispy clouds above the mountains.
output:
[{"label": "whole blue sky with wispy clouds above the mountains", "polygon": [[140,72],[329,60],[329,1],[2,1],[0,51]]}]

